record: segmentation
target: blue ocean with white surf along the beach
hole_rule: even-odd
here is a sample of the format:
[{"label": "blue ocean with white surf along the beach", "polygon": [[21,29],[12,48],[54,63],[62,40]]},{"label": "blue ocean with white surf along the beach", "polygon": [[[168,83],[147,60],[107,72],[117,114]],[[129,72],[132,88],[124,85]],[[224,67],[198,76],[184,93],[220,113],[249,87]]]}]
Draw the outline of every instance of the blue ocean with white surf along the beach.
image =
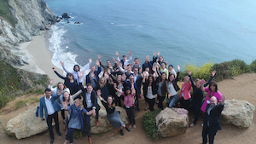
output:
[{"label": "blue ocean with white surf along the beach", "polygon": [[[196,65],[256,59],[256,2],[253,0],[44,0],[53,13],[69,14],[49,30],[52,62],[84,66],[132,52],[143,64],[160,51],[165,61]],[[67,23],[70,21],[70,23]],[[73,24],[80,22],[79,25]]]}]

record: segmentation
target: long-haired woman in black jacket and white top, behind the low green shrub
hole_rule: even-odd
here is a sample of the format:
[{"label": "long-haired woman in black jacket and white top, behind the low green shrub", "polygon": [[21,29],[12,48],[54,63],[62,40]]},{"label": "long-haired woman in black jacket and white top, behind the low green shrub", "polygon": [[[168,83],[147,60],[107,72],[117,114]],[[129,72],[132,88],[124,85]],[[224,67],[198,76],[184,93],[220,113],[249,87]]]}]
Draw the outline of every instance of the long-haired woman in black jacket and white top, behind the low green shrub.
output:
[{"label": "long-haired woman in black jacket and white top, behind the low green shrub", "polygon": [[148,102],[149,110],[154,111],[154,102],[155,96],[157,94],[157,81],[154,80],[152,74],[150,74],[147,78],[146,72],[143,77],[143,95],[145,97],[145,101]]}]

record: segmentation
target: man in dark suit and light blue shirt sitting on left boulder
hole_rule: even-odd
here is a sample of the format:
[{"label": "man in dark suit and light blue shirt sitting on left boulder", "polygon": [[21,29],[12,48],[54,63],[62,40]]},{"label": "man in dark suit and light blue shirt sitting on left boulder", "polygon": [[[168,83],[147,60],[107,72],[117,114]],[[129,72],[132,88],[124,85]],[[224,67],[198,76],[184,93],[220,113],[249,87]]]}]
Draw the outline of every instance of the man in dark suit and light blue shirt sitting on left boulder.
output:
[{"label": "man in dark suit and light blue shirt sitting on left boulder", "polygon": [[[96,126],[99,126],[100,124],[99,110],[101,109],[101,107],[97,103],[96,91],[93,90],[92,84],[87,84],[87,87],[85,89],[82,88],[81,90],[79,90],[78,93],[79,94],[82,93],[84,108],[88,112],[92,111],[92,115],[96,117]],[[77,96],[76,98],[78,98],[79,96]],[[84,114],[84,119],[85,119],[85,129],[88,136],[88,141],[91,144],[92,141],[90,138],[90,115]]]}]

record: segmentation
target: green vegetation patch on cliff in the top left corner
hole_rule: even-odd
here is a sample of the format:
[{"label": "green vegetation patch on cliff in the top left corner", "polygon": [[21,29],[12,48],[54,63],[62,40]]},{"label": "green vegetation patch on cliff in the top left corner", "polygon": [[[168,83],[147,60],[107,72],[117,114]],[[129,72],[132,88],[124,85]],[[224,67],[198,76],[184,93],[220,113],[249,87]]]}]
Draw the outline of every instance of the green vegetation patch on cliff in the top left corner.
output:
[{"label": "green vegetation patch on cliff in the top left corner", "polygon": [[15,27],[17,20],[11,12],[11,6],[8,2],[9,0],[0,0],[0,15]]}]

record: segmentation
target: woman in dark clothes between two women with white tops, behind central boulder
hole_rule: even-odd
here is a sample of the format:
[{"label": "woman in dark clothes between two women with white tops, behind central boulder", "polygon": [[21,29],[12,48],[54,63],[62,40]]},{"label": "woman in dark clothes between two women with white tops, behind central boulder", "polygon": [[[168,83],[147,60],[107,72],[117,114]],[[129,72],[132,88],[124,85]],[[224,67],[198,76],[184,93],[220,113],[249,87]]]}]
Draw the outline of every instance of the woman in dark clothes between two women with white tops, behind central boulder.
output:
[{"label": "woman in dark clothes between two women with white tops, behind central boulder", "polygon": [[158,90],[157,90],[157,99],[159,101],[158,107],[163,110],[163,101],[166,98],[166,94],[169,94],[168,92],[168,84],[166,79],[166,72],[162,72],[160,77],[158,78]]}]

